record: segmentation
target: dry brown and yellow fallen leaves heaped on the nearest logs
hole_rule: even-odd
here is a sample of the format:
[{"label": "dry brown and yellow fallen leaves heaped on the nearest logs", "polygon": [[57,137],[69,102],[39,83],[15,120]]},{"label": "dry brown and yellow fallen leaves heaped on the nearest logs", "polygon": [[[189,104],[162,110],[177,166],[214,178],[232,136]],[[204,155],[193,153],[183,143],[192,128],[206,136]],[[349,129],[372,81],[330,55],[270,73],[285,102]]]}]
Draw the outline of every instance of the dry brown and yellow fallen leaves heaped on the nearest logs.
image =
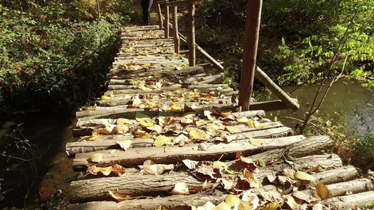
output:
[{"label": "dry brown and yellow fallen leaves heaped on the nearest logs", "polygon": [[[91,157],[91,160],[100,161],[100,157],[97,160],[95,158],[97,157]],[[99,163],[99,165],[105,164]],[[328,188],[322,183],[316,184],[312,175],[290,168],[269,173],[265,180],[273,185],[272,188],[262,186],[256,179],[258,166],[251,159],[244,158],[239,151],[236,153],[236,160],[232,162],[183,160],[178,165],[160,165],[152,160],[146,160],[139,168],[140,175],[159,175],[165,171],[182,168],[201,180],[206,180],[201,183],[201,186],[175,183],[175,187],[168,191],[172,195],[192,195],[208,193],[212,190],[229,193],[225,201],[217,206],[206,202],[202,207],[192,207],[192,209],[278,209],[279,207],[326,209],[320,201],[330,198]],[[105,175],[112,172],[122,176],[126,169],[114,163],[110,163],[107,167],[93,165],[88,168],[88,173],[98,174],[98,172]],[[119,202],[138,198],[130,195],[121,197],[112,191],[109,191],[109,194]]]}]

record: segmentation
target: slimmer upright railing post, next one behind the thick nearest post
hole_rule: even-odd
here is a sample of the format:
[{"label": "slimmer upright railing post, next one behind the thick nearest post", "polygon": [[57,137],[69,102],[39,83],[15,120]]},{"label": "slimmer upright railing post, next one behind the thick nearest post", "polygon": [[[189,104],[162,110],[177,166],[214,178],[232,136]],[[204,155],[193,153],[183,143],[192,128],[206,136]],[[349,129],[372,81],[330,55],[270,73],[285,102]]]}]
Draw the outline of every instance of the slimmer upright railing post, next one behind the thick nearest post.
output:
[{"label": "slimmer upright railing post, next one behind the thick nearest post", "polygon": [[196,52],[195,52],[195,5],[188,6],[188,50],[189,50],[189,66],[195,66]]}]

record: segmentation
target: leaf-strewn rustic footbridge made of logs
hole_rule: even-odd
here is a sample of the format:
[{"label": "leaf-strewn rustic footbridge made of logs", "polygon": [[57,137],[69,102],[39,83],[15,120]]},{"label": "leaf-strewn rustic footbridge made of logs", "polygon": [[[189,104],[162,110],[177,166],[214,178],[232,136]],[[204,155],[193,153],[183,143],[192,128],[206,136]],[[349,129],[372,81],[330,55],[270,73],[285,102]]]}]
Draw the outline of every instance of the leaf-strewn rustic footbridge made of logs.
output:
[{"label": "leaf-strewn rustic footbridge made of logs", "polygon": [[330,153],[329,137],[294,136],[265,117],[264,110],[292,109],[288,96],[251,101],[243,111],[222,75],[178,53],[179,32],[168,37],[161,6],[191,7],[193,15],[198,2],[157,3],[159,25],[123,29],[107,92],[76,112],[76,141],[66,153],[84,176],[70,185],[68,209],[349,209],[372,202],[372,180]]}]

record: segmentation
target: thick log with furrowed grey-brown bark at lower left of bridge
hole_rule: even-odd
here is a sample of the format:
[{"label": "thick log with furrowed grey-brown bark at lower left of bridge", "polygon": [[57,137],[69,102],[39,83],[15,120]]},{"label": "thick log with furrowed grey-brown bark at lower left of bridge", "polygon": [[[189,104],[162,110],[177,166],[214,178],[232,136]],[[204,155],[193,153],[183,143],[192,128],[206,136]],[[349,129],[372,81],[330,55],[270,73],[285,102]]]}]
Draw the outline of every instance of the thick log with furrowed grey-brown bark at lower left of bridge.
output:
[{"label": "thick log with furrowed grey-brown bark at lower left of bridge", "polygon": [[98,200],[114,200],[108,191],[115,195],[126,197],[156,196],[173,190],[176,183],[184,182],[190,190],[194,186],[201,186],[197,181],[185,173],[164,175],[119,176],[101,179],[73,181],[70,184],[70,202],[88,202]]}]

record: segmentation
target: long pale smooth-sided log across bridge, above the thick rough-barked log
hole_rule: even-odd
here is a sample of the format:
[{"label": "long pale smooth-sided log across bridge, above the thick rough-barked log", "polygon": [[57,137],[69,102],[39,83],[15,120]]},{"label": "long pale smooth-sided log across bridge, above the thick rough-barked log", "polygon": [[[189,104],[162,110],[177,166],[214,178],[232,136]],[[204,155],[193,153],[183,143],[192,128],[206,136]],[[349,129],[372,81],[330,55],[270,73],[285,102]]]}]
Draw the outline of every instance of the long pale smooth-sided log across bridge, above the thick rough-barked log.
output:
[{"label": "long pale smooth-sided log across bridge, above the thick rough-barked log", "polygon": [[[281,130],[282,128],[276,128]],[[258,132],[247,132],[243,133],[244,138],[256,137],[258,134],[263,133],[263,136],[267,138],[272,137],[275,131],[260,130]],[[256,134],[258,133],[258,134]],[[280,132],[278,132],[280,133]],[[283,132],[282,134],[285,134]],[[262,136],[262,137],[263,137]],[[78,153],[76,154],[73,162],[73,168],[76,171],[86,170],[87,167],[93,165],[90,157],[94,153],[101,153],[103,155],[103,162],[114,162],[119,165],[142,165],[145,160],[153,160],[156,163],[175,163],[185,159],[190,160],[229,160],[234,159],[236,152],[241,151],[243,155],[251,155],[259,153],[260,151],[267,151],[272,148],[284,147],[290,144],[295,144],[298,141],[302,141],[304,137],[293,136],[293,137],[280,137],[276,139],[261,139],[268,144],[262,144],[262,146],[254,146],[250,143],[241,141],[232,141],[229,144],[211,144],[208,146],[206,151],[194,151],[194,146],[186,145],[184,147],[171,146],[167,148],[163,147],[152,147],[152,148],[128,148],[125,151],[99,151],[92,153]],[[111,153],[109,153],[111,152]],[[225,155],[222,157],[222,153]]]}]

